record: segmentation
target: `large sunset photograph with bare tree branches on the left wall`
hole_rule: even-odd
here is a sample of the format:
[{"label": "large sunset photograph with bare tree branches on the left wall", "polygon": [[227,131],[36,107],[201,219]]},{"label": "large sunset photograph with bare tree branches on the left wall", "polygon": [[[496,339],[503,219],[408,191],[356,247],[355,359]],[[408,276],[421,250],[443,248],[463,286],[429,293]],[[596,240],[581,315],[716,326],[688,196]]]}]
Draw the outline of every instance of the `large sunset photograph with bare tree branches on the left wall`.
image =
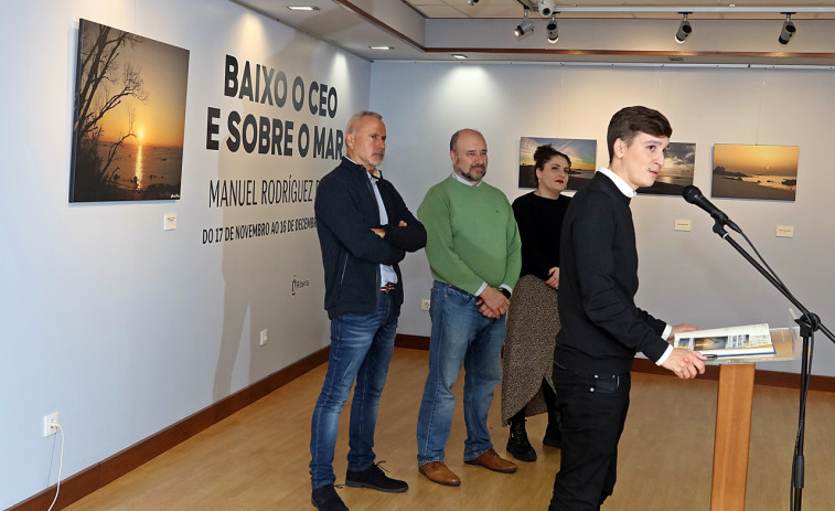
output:
[{"label": "large sunset photograph with bare tree branches on the left wall", "polygon": [[81,20],[69,202],[180,199],[189,51]]}]

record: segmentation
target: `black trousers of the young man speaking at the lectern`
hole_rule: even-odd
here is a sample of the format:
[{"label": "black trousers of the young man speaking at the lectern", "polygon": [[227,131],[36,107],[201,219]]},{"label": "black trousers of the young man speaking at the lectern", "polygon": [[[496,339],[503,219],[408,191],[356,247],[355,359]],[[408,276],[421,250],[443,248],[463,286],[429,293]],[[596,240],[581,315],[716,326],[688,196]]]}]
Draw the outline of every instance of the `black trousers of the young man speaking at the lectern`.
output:
[{"label": "black trousers of the young man speaking at the lectern", "polygon": [[629,373],[579,374],[554,366],[563,444],[549,511],[597,511],[612,494],[631,382]]}]

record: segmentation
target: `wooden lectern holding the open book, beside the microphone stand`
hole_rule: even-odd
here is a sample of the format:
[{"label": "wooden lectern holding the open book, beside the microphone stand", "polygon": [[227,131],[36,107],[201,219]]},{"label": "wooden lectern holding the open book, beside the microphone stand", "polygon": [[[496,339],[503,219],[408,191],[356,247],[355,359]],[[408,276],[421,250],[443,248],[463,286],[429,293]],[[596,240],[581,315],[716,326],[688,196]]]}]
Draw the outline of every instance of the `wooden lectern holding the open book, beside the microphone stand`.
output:
[{"label": "wooden lectern holding the open book, beside the microphone stand", "polygon": [[709,362],[720,365],[710,511],[745,511],[754,362],[794,360],[802,349],[797,327],[771,329],[771,341],[773,355]]}]

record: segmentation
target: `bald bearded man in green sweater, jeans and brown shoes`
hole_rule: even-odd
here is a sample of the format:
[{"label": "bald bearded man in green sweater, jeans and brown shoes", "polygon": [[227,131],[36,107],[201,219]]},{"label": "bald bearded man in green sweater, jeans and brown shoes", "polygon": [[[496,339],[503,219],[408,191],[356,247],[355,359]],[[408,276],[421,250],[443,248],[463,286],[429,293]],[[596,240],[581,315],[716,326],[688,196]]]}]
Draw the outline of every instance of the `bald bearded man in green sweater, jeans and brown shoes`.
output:
[{"label": "bald bearded man in green sweater, jeans and brown shoes", "polygon": [[482,182],[488,170],[484,137],[472,129],[452,136],[453,173],[429,189],[418,209],[426,226],[432,270],[429,375],[418,414],[418,467],[431,481],[458,486],[445,464],[452,425],[452,385],[464,368],[464,462],[515,472],[490,441],[488,412],[502,376],[505,313],[520,276],[516,220],[501,190]]}]

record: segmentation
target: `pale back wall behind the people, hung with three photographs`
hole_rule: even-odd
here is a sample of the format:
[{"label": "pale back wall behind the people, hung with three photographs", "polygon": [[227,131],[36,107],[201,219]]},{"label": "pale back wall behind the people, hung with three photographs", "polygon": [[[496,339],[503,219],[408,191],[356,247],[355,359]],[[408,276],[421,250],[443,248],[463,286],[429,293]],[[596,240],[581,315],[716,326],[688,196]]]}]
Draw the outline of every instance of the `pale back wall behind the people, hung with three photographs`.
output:
[{"label": "pale back wall behind the people, hung with three photographs", "polygon": [[[795,202],[713,202],[742,227],[800,301],[833,328],[833,91],[831,68],[374,63],[371,105],[388,130],[383,170],[414,210],[451,172],[449,138],[464,127],[484,134],[485,181],[511,201],[529,191],[517,188],[521,137],[596,139],[597,162],[606,164],[609,119],[630,105],[660,109],[673,125],[673,141],[696,143],[694,184],[708,198],[714,143],[800,146]],[[704,211],[663,195],[639,195],[632,211],[639,306],[670,322],[703,328],[794,326],[788,300],[713,233]],[[674,231],[677,219],[689,220],[692,231]],[[794,237],[778,238],[777,225],[794,226]],[[403,274],[400,331],[426,336],[430,322],[420,299],[429,297],[432,280],[422,252],[406,258]],[[822,333],[816,340],[813,372],[835,375],[835,347]],[[799,371],[799,363],[760,369]]]}]

